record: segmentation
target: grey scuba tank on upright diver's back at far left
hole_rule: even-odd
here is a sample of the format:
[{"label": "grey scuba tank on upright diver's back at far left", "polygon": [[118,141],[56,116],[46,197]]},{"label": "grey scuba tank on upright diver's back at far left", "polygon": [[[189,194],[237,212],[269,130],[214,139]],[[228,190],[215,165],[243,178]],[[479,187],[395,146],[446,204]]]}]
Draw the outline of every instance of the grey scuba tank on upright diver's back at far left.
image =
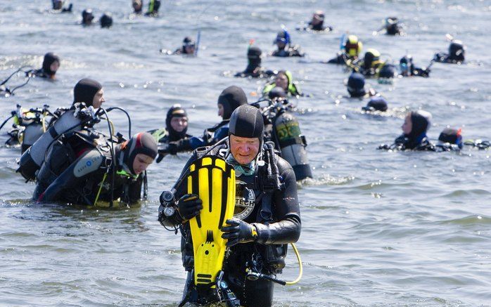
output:
[{"label": "grey scuba tank on upright diver's back at far left", "polygon": [[58,136],[68,131],[79,131],[82,124],[95,119],[94,107],[85,107],[85,103],[76,103],[75,109],[67,110],[61,115],[46,133],[37,139],[32,146],[20,157],[20,174],[27,180],[34,180],[36,172],[44,162],[46,150]]}]

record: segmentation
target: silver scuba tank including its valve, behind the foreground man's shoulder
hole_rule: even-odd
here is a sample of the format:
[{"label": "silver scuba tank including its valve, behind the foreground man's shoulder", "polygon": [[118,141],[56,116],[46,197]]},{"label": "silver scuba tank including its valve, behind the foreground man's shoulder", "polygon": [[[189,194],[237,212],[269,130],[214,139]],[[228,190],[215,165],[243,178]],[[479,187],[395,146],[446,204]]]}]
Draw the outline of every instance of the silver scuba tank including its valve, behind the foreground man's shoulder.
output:
[{"label": "silver scuba tank including its valve, behind the foreground man's shoulder", "polygon": [[281,150],[281,157],[293,167],[295,178],[303,180],[312,178],[307,159],[307,141],[302,136],[300,124],[296,117],[288,110],[288,100],[270,100],[269,107],[264,108],[262,114],[271,122],[271,136],[266,138],[274,141],[277,149]]}]

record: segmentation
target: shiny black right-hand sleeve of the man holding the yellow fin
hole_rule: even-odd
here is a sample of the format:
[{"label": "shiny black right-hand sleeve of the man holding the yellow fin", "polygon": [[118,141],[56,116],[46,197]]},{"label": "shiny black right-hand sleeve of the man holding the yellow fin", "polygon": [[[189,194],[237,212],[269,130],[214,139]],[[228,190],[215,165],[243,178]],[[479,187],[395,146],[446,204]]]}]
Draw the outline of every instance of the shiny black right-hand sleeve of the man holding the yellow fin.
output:
[{"label": "shiny black right-hand sleeve of the man holding the yellow fin", "polygon": [[273,195],[272,213],[276,222],[267,225],[253,223],[257,228],[257,243],[260,244],[297,242],[302,228],[295,173],[288,162],[279,157],[276,159],[285,188]]}]

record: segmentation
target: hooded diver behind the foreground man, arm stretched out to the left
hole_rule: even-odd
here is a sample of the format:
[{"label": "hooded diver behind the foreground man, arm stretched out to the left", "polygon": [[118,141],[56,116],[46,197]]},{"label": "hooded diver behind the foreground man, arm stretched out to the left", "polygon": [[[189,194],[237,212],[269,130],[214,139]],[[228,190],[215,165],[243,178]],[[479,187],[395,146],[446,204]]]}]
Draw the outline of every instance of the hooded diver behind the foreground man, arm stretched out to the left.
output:
[{"label": "hooded diver behind the foreground man, arm stretched out to the left", "polygon": [[177,152],[195,150],[202,146],[213,145],[226,138],[229,133],[230,116],[241,105],[247,105],[247,96],[245,96],[243,89],[238,86],[229,86],[227,89],[224,89],[220,93],[217,101],[218,116],[222,117],[222,122],[205,129],[203,136],[200,138],[193,136],[191,138],[183,138],[176,142],[161,144],[158,150],[158,161],[160,162],[162,159],[161,155],[175,155]]}]

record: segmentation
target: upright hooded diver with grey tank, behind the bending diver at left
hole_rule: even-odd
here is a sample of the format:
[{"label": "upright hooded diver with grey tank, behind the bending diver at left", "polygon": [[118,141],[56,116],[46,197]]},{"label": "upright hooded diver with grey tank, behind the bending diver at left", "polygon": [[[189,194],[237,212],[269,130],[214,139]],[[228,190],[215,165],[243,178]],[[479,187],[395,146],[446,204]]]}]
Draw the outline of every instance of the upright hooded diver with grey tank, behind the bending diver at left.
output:
[{"label": "upright hooded diver with grey tank, behind the bending diver at left", "polygon": [[53,112],[49,129],[32,144],[20,157],[17,170],[27,180],[34,180],[42,166],[46,150],[63,133],[80,131],[96,120],[96,109],[106,102],[103,89],[98,81],[81,79],[73,89],[73,103],[70,108],[59,108]]}]

